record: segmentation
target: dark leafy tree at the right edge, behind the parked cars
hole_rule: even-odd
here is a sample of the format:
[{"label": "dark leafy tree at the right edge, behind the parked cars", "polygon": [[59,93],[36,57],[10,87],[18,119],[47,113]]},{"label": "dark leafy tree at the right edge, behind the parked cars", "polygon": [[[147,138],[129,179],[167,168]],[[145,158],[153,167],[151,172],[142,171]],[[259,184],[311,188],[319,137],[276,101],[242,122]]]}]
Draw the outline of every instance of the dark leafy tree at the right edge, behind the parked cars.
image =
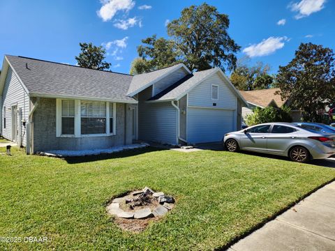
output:
[{"label": "dark leafy tree at the right edge, behind the parked cars", "polygon": [[301,43],[295,58],[287,66],[279,66],[276,86],[281,98],[304,111],[304,120],[322,121],[325,105],[335,98],[335,60],[332,49]]}]

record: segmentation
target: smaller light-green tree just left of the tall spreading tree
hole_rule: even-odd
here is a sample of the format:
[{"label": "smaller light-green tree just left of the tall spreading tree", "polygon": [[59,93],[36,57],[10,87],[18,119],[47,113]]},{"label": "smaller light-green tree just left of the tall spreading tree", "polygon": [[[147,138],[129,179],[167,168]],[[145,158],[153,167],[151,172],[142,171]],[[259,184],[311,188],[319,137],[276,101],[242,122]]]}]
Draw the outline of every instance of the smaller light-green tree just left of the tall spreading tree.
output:
[{"label": "smaller light-green tree just left of the tall spreading tree", "polygon": [[142,43],[145,45],[137,47],[140,58],[131,63],[131,74],[147,73],[179,63],[179,55],[172,40],[157,39],[154,35],[142,39]]}]

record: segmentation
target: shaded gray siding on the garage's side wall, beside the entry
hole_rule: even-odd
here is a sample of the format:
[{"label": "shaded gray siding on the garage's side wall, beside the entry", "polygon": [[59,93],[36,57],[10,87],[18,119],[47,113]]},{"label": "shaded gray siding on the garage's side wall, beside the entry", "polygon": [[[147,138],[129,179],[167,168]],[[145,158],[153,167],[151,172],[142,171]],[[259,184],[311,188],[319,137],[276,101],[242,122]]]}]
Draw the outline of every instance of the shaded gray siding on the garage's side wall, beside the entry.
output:
[{"label": "shaded gray siding on the garage's side wall, beside the entry", "polygon": [[171,102],[145,102],[151,87],[139,93],[138,139],[177,144],[177,109]]}]

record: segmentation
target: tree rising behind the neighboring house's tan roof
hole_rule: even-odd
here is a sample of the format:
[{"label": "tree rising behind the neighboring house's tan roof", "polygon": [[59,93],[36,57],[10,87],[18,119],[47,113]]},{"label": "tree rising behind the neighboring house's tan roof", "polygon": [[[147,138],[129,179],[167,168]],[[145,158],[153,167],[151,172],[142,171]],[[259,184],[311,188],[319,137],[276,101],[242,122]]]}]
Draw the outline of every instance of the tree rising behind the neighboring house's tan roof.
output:
[{"label": "tree rising behind the neighboring house's tan roof", "polygon": [[268,75],[270,66],[262,62],[257,62],[254,66],[249,65],[249,57],[243,57],[237,61],[237,68],[230,75],[232,84],[242,91],[269,88],[272,83],[271,76]]}]

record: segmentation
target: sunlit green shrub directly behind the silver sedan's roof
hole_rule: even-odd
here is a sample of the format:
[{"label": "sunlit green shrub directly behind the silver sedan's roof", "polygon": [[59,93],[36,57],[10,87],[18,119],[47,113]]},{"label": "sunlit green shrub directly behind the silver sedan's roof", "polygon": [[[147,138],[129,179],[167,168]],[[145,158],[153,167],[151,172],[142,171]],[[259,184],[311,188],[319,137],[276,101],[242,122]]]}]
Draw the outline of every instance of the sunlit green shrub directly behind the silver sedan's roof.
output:
[{"label": "sunlit green shrub directly behind the silver sedan's roof", "polygon": [[246,116],[246,124],[248,126],[268,122],[292,122],[290,108],[285,106],[283,108],[256,107],[253,110],[253,114]]}]

